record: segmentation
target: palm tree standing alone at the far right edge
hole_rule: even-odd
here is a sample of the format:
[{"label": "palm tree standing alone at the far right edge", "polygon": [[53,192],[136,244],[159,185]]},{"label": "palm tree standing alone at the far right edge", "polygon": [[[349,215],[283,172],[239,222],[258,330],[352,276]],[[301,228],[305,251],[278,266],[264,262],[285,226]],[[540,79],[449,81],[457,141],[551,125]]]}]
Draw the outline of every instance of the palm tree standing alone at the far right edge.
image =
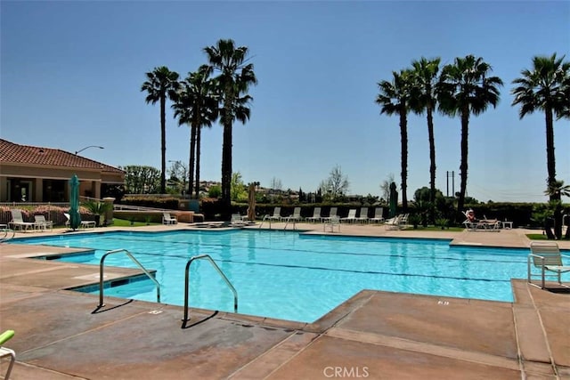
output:
[{"label": "palm tree standing alone at the far right edge", "polygon": [[[553,118],[555,114],[557,118],[570,117],[570,62],[564,62],[564,57],[557,58],[556,53],[550,57],[535,56],[533,69],[522,70],[522,77],[513,80],[517,86],[511,90],[515,95],[512,105],[520,104],[520,118],[535,109],[544,111],[549,188],[557,182]],[[557,199],[560,199],[559,194],[550,194],[550,200]]]}]

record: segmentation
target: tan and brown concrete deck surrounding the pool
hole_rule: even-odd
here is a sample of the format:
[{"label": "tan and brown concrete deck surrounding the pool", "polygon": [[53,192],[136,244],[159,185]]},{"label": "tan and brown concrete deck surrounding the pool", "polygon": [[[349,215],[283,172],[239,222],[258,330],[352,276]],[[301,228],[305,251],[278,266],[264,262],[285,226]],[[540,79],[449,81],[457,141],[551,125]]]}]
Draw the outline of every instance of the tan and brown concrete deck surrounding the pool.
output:
[{"label": "tan and brown concrete deck surrounding the pool", "polygon": [[[297,223],[297,230],[322,233],[322,224]],[[536,231],[343,224],[335,234],[528,247],[528,232]],[[46,232],[17,234],[40,235]],[[558,243],[570,249],[570,241]],[[0,245],[0,332],[16,331],[5,344],[16,352],[12,379],[570,378],[567,287],[542,290],[513,279],[514,303],[365,290],[313,324],[191,309],[184,327],[179,306],[105,297],[98,309],[97,295],[64,290],[97,282],[98,268],[27,258],[65,252]],[[106,275],[134,272],[109,268]],[[1,376],[6,368],[2,360]]]}]

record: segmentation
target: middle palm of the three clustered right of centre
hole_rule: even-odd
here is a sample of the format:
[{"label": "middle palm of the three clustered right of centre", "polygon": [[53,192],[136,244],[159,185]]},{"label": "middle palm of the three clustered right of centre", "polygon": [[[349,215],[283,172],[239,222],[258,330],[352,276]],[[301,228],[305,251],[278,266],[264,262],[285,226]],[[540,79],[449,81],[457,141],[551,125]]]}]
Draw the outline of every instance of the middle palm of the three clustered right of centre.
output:
[{"label": "middle palm of the three clustered right of centre", "polygon": [[429,202],[436,201],[436,139],[434,137],[434,110],[436,109],[436,85],[439,63],[441,59],[428,60],[421,57],[412,61],[412,78],[410,107],[416,114],[426,111],[428,119],[429,141]]}]

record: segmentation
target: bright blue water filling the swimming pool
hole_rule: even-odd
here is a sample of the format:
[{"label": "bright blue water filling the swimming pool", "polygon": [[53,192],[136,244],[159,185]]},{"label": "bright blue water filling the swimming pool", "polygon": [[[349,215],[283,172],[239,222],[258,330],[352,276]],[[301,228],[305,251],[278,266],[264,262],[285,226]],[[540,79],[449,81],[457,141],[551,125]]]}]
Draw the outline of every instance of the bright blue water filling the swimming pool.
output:
[{"label": "bright blue water filling the swimming pool", "polygon": [[[126,248],[157,271],[161,301],[177,305],[183,305],[186,262],[210,255],[237,289],[240,313],[304,322],[362,289],[512,302],[510,279],[526,278],[528,255],[526,249],[450,247],[449,240],[265,230],[105,232],[17,242],[94,248],[94,255],[62,260],[95,265],[108,250]],[[134,267],[126,255],[110,255],[105,264]],[[192,263],[190,278],[191,307],[233,311],[233,294],[210,263]],[[156,301],[150,280],[111,287],[105,295]]]}]

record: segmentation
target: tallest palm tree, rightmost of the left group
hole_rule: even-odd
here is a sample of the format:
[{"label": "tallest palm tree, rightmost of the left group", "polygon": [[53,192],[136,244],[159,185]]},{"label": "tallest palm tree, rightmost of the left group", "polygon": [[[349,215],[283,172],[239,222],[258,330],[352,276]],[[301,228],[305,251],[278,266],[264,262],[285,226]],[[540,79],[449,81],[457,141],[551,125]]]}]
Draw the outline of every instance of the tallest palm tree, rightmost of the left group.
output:
[{"label": "tallest palm tree, rightmost of the left group", "polygon": [[249,119],[248,95],[250,85],[257,79],[253,64],[247,63],[248,47],[235,46],[232,39],[220,39],[216,45],[207,46],[204,52],[212,69],[219,72],[216,87],[220,101],[220,122],[224,126],[222,147],[222,201],[229,212],[231,206],[230,187],[232,182],[232,125],[234,120],[245,124]]}]

